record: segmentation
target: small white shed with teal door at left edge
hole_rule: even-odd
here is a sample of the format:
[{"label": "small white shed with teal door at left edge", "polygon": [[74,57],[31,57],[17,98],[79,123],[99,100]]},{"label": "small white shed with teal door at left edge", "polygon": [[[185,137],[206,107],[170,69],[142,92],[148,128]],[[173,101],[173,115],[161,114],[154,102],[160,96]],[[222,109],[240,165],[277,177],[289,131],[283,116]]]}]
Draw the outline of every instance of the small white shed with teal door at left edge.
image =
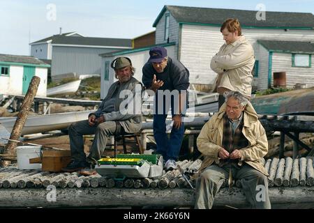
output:
[{"label": "small white shed with teal door at left edge", "polygon": [[46,96],[49,67],[33,56],[0,54],[0,94],[25,95],[31,78],[38,76],[40,84],[36,95]]}]

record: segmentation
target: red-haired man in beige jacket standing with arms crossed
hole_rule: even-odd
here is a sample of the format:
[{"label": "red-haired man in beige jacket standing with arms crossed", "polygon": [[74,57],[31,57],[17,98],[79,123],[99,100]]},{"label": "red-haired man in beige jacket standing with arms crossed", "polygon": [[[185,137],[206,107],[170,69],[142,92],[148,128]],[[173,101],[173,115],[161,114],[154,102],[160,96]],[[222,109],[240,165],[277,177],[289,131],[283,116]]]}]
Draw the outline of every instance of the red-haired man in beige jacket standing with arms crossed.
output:
[{"label": "red-haired man in beige jacket standing with arms crossed", "polygon": [[225,44],[211,59],[211,70],[216,72],[214,92],[219,93],[218,107],[225,102],[223,93],[239,91],[248,100],[252,92],[252,70],[255,63],[254,50],[251,43],[241,33],[239,20],[228,19],[220,28]]}]

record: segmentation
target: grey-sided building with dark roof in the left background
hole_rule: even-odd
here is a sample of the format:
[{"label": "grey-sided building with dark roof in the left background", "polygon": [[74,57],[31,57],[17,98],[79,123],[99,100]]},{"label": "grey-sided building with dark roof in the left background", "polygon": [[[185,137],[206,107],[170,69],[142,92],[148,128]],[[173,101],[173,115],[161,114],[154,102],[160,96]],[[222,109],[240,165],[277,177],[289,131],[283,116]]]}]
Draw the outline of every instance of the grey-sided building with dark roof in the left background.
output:
[{"label": "grey-sided building with dark roof in the left background", "polygon": [[53,81],[80,75],[100,75],[98,54],[132,49],[130,39],[85,37],[79,33],[63,33],[33,42],[31,56],[51,59]]}]

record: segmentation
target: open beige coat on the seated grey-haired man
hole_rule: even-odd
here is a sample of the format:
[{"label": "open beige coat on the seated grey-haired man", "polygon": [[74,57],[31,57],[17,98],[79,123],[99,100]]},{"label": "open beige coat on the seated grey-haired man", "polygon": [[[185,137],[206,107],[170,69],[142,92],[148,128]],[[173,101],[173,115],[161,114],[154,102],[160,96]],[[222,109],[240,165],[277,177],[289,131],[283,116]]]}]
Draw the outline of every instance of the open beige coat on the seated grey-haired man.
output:
[{"label": "open beige coat on the seated grey-haired man", "polygon": [[[197,148],[204,155],[204,160],[198,171],[197,177],[205,168],[216,162],[219,163],[218,151],[222,148],[223,143],[223,116],[225,114],[226,104],[224,103],[219,112],[214,114],[209,121],[203,126],[200,135],[197,137]],[[248,139],[248,146],[241,148],[241,160],[239,165],[246,162],[251,167],[257,169],[268,176],[267,171],[262,165],[262,157],[267,154],[268,141],[266,132],[257,118],[257,114],[248,102],[244,109],[244,127],[242,129],[244,137]]]}]

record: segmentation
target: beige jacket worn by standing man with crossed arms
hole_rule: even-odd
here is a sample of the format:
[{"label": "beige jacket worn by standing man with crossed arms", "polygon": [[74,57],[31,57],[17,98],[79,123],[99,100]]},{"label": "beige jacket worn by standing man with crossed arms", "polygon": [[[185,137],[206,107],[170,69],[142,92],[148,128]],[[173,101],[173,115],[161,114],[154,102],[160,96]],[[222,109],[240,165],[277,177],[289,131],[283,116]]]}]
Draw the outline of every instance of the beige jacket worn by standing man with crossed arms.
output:
[{"label": "beige jacket worn by standing man with crossed arms", "polygon": [[230,45],[225,43],[211,59],[211,69],[218,73],[214,89],[218,87],[218,93],[220,89],[239,91],[251,98],[254,63],[253,47],[244,36]]}]

